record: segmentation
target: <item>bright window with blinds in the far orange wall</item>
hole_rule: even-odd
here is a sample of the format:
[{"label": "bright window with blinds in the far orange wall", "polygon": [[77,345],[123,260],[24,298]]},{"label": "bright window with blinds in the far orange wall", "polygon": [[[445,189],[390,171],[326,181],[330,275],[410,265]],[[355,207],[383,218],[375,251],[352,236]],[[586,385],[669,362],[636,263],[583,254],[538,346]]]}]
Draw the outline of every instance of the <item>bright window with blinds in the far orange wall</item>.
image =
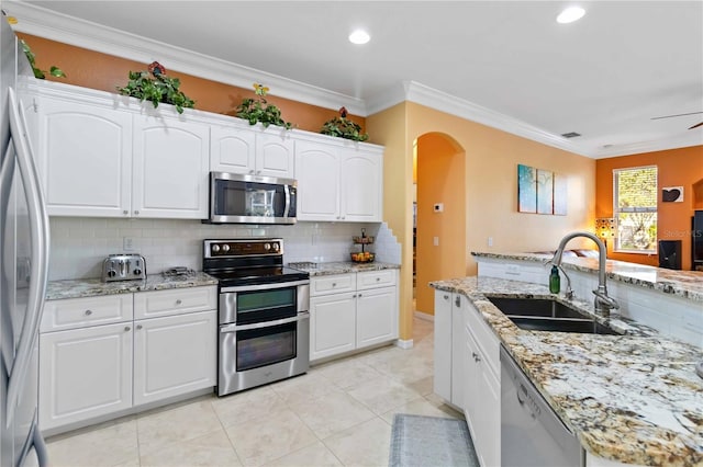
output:
[{"label": "bright window with blinds in the far orange wall", "polygon": [[615,250],[657,252],[657,168],[613,171]]}]

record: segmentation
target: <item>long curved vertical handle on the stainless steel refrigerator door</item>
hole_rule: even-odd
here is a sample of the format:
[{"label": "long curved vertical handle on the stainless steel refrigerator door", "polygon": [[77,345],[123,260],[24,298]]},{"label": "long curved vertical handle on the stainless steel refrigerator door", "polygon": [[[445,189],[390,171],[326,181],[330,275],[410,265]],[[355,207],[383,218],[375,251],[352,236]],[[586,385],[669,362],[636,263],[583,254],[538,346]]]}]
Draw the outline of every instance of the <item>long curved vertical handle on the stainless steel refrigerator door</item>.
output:
[{"label": "long curved vertical handle on the stainless steel refrigerator door", "polygon": [[18,352],[10,373],[7,400],[7,426],[12,423],[14,407],[18,403],[22,384],[36,343],[42,311],[44,309],[44,296],[46,294],[46,281],[48,276],[48,216],[44,204],[44,196],[40,186],[40,178],[34,164],[32,146],[26,134],[24,113],[18,105],[12,88],[8,88],[8,110],[10,114],[10,135],[16,151],[16,163],[24,183],[27,201],[27,217],[30,221],[31,258],[33,266],[30,273],[30,289],[26,305],[26,316],[22,326],[22,334],[18,344]]}]

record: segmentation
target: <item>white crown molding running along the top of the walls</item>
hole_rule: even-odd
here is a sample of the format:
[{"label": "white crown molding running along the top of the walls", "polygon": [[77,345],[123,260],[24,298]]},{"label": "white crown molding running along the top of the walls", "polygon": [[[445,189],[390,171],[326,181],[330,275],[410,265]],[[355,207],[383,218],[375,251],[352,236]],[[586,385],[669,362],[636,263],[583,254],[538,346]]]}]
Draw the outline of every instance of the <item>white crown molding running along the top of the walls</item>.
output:
[{"label": "white crown molding running along the top of the walls", "polygon": [[168,64],[168,69],[241,88],[249,88],[253,82],[265,82],[276,90],[276,92],[271,92],[271,95],[333,110],[344,105],[349,113],[359,116],[372,115],[403,101],[410,101],[593,159],[703,145],[702,132],[698,132],[698,134],[692,132],[693,134],[676,138],[616,145],[610,148],[584,147],[579,145],[578,140],[568,140],[560,135],[550,134],[517,118],[415,81],[403,81],[400,86],[364,101],[278,75],[58,14],[30,2],[5,1],[3,9],[8,14],[18,18],[19,22],[13,29],[26,34],[145,64],[159,60]]}]

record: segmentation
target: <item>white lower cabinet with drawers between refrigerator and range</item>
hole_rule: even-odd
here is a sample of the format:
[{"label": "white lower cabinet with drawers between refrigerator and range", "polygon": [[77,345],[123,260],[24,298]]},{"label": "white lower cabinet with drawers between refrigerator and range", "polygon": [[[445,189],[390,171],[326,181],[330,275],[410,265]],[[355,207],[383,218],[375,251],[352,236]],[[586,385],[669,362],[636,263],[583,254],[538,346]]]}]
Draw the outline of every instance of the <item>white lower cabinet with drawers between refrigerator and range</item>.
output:
[{"label": "white lower cabinet with drawers between refrigerator and range", "polygon": [[[169,293],[183,307],[134,319],[148,312],[142,304],[160,305]],[[215,386],[215,286],[48,301],[40,334],[42,430],[59,432]],[[210,309],[187,312],[202,308]],[[108,318],[120,322],[103,324]]]}]

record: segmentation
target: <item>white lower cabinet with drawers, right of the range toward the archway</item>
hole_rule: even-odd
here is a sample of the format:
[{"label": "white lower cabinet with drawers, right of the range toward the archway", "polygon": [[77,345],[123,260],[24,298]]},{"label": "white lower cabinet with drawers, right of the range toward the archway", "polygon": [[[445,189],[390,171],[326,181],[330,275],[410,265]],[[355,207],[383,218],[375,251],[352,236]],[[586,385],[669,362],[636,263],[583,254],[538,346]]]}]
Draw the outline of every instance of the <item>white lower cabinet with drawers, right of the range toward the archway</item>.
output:
[{"label": "white lower cabinet with drawers, right of the range toward the archway", "polygon": [[310,324],[311,362],[398,339],[397,271],[313,277]]}]

